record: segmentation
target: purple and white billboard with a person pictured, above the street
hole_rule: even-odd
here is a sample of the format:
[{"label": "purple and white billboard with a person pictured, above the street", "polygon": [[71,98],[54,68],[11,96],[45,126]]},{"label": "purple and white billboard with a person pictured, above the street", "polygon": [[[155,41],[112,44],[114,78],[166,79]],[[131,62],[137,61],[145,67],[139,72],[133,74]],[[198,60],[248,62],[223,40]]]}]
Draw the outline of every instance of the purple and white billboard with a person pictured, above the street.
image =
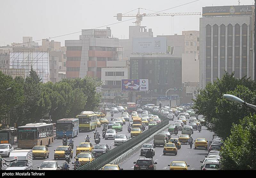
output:
[{"label": "purple and white billboard with a person pictured, above the street", "polygon": [[148,91],[148,79],[122,79],[123,91]]}]

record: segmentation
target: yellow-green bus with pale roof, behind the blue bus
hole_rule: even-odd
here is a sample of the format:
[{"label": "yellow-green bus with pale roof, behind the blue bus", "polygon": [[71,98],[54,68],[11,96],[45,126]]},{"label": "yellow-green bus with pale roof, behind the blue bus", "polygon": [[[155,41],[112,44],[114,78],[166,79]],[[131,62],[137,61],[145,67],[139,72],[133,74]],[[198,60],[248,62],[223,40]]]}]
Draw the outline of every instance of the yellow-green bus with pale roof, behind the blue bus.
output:
[{"label": "yellow-green bus with pale roof, behind the blue bus", "polygon": [[79,119],[79,131],[91,131],[97,128],[97,114],[83,111],[76,116]]}]

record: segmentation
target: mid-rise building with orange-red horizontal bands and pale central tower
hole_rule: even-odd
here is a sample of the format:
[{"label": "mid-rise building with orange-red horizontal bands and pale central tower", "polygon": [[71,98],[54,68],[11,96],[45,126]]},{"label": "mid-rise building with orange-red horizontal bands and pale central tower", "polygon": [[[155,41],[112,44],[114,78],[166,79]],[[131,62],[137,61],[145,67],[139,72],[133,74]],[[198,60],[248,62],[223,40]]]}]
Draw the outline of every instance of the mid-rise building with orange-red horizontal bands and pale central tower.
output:
[{"label": "mid-rise building with orange-red horizontal bands and pale central tower", "polygon": [[119,39],[111,38],[111,30],[85,29],[79,40],[65,40],[67,47],[67,78],[92,76],[101,78],[101,68],[109,61],[117,61],[122,56]]}]

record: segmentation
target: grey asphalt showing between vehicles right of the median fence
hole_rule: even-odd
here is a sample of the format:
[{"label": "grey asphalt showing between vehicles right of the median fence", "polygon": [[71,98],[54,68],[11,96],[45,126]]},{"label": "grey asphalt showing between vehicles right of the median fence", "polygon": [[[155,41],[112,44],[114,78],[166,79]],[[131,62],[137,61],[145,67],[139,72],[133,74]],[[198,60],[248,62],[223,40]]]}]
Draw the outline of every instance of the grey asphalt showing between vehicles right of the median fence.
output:
[{"label": "grey asphalt showing between vehicles right of the median fence", "polygon": [[[199,119],[202,117],[199,116]],[[174,118],[174,121],[177,120],[177,117]],[[169,121],[170,123],[174,123],[174,121]],[[165,130],[167,131],[167,129]],[[172,135],[172,138],[178,138],[178,136],[181,134],[181,131],[179,131],[178,135]],[[206,130],[205,127],[202,127],[202,131],[199,133],[197,130],[194,130],[194,134],[192,134],[192,137],[194,140],[196,138],[206,138],[208,140],[208,147],[210,146],[210,141],[212,141],[212,132],[209,132]],[[153,140],[149,143],[153,144]],[[175,156],[174,154],[167,154],[163,155],[163,146],[157,146],[155,148],[155,156],[153,157],[154,161],[157,162],[156,169],[157,170],[169,170],[169,164],[172,161],[186,161],[186,163],[189,165],[189,170],[200,170],[201,163],[200,161],[203,161],[205,158],[204,156],[208,155],[208,151],[205,149],[194,149],[194,144],[192,146],[192,149],[190,149],[190,146],[187,144],[182,144],[181,149],[178,150],[178,154]],[[123,168],[124,170],[133,170],[133,162],[136,161],[138,158],[143,158],[140,156],[140,150],[132,154],[129,158],[126,158],[124,161],[119,163],[119,166]]]}]

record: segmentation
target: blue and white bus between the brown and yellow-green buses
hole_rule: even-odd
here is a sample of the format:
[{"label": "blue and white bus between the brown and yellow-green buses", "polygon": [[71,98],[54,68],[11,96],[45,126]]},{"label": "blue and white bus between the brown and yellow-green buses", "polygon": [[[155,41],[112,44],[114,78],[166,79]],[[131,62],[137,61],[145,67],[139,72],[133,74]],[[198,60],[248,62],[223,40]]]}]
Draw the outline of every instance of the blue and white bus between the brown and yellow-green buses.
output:
[{"label": "blue and white bus between the brown and yellow-green buses", "polygon": [[79,121],[78,118],[66,118],[60,119],[56,122],[56,137],[62,138],[64,134],[68,138],[74,138],[79,133]]}]

